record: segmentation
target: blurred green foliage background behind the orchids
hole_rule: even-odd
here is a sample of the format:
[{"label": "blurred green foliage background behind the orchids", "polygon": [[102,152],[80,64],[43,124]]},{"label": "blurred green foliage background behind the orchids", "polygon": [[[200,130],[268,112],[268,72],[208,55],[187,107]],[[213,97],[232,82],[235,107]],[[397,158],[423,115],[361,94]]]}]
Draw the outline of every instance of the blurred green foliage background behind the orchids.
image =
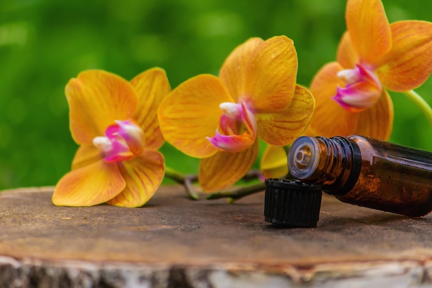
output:
[{"label": "blurred green foliage background behind the orchids", "polygon": [[[384,0],[391,22],[432,21],[424,0]],[[0,189],[53,185],[69,171],[77,145],[68,130],[64,86],[100,68],[131,79],[154,66],[174,88],[199,73],[217,74],[249,37],[287,35],[300,61],[297,82],[335,59],[345,30],[344,0],[1,0]],[[418,88],[432,103],[432,81]],[[432,151],[432,130],[418,108],[391,93],[391,140]],[[162,148],[168,166],[193,173],[197,160]]]}]

